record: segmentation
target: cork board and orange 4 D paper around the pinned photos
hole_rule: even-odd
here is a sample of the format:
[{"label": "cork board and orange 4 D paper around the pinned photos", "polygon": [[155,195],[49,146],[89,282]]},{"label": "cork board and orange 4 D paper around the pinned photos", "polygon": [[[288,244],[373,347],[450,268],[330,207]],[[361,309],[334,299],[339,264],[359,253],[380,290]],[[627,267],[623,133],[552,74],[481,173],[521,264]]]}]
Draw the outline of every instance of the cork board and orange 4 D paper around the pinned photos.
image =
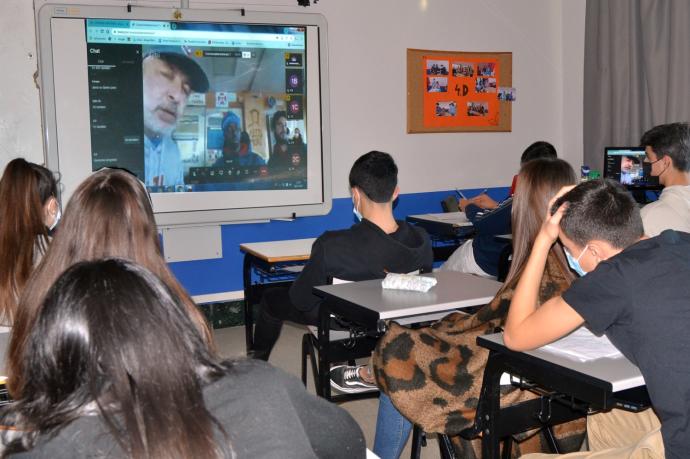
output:
[{"label": "cork board and orange 4 D paper around the pinned photos", "polygon": [[[428,72],[426,62],[430,59],[447,59],[450,62],[473,62],[482,60],[497,62],[496,68],[496,90],[498,87],[512,87],[513,85],[513,53],[493,52],[477,53],[465,51],[439,51],[428,49],[408,49],[407,50],[407,132],[409,134],[423,134],[433,132],[511,132],[512,130],[512,102],[498,100],[497,93],[479,94],[475,91],[475,85],[469,84],[474,78],[456,79],[453,76],[452,64],[447,70],[447,87],[444,96],[430,95],[428,91]],[[477,70],[477,66],[474,66]],[[444,76],[442,74],[439,74]],[[463,95],[462,85],[464,81],[467,87],[467,94]],[[456,83],[460,86],[456,88]],[[459,91],[456,91],[459,89]],[[467,111],[468,116],[458,116],[455,120],[439,120],[443,125],[430,125],[435,120],[429,118],[430,98],[434,100],[448,100],[456,103],[455,110]],[[485,120],[473,119],[469,117],[469,107],[467,103],[470,99],[487,104],[488,115]],[[442,102],[443,103],[443,102]],[[426,104],[426,105],[425,105]],[[447,105],[447,104],[446,104]],[[493,110],[492,110],[492,107]],[[426,110],[426,122],[425,122]],[[434,108],[432,106],[431,110]],[[493,113],[492,113],[493,111]],[[475,113],[475,112],[473,112]],[[483,123],[484,125],[477,125]],[[439,124],[439,123],[436,123]]]}]

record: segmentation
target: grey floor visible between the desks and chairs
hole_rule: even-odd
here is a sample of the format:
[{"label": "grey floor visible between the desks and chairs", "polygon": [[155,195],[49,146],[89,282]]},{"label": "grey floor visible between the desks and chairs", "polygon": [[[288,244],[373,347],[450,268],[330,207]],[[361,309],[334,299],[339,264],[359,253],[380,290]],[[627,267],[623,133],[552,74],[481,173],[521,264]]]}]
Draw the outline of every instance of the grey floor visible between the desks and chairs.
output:
[{"label": "grey floor visible between the desks and chairs", "polygon": [[[305,327],[286,324],[283,333],[271,355],[271,364],[282,368],[296,377],[300,377],[300,356],[302,335]],[[241,357],[245,355],[244,327],[230,327],[215,330],[216,344],[224,357]],[[314,393],[314,385],[311,376],[308,382],[310,392]],[[376,429],[377,399],[357,400],[342,404],[353,418],[359,423],[367,439],[367,446],[371,449],[374,444],[374,431]],[[410,457],[410,443],[408,442],[402,457]],[[422,459],[438,458],[439,450],[435,439],[429,439],[428,446],[422,448]]]}]

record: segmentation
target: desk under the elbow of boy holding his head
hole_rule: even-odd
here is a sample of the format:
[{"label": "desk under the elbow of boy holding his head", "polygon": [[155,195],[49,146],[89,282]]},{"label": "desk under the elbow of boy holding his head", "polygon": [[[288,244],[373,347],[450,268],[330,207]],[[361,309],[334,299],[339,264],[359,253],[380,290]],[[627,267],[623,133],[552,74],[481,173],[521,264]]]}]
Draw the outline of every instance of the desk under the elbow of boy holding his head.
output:
[{"label": "desk under the elbow of boy holding his head", "polygon": [[[623,356],[580,362],[543,349],[515,352],[503,344],[501,333],[480,336],[477,344],[490,351],[471,429],[474,435],[482,434],[484,458],[498,458],[500,440],[515,433],[567,422],[591,410],[640,411],[650,406],[640,370]],[[500,409],[504,372],[543,396]]]}]

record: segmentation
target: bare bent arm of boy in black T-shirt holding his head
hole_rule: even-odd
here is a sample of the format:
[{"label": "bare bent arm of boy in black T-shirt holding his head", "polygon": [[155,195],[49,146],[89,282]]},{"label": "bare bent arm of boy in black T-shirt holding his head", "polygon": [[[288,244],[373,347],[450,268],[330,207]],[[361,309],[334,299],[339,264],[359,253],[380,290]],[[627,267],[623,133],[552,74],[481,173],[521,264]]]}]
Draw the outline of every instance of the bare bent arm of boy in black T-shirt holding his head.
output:
[{"label": "bare bent arm of boy in black T-shirt holding his head", "polygon": [[544,222],[515,288],[503,334],[503,341],[510,349],[523,351],[543,346],[584,323],[582,316],[561,296],[537,308],[546,258],[558,238],[558,225],[564,210],[561,206]]}]

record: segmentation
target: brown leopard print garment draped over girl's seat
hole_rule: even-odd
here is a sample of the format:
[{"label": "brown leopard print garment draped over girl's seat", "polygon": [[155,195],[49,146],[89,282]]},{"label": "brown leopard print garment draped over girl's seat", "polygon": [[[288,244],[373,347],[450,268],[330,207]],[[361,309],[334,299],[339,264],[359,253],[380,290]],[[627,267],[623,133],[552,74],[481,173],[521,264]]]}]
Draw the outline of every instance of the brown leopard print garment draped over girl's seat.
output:
[{"label": "brown leopard print garment draped over girl's seat", "polygon": [[[571,278],[550,252],[540,286],[540,304],[567,289]],[[510,286],[475,314],[456,312],[430,327],[409,329],[390,324],[372,360],[379,387],[403,416],[425,432],[447,435],[457,435],[473,424],[489,355],[487,349],[477,346],[476,338],[503,326],[513,292],[514,286]],[[535,395],[529,391],[509,389],[502,392],[501,404],[532,397]],[[573,443],[581,441],[584,422],[569,424],[559,428],[559,436],[571,437]],[[540,449],[539,445],[523,445],[519,453]],[[465,451],[463,457],[472,455]]]}]

